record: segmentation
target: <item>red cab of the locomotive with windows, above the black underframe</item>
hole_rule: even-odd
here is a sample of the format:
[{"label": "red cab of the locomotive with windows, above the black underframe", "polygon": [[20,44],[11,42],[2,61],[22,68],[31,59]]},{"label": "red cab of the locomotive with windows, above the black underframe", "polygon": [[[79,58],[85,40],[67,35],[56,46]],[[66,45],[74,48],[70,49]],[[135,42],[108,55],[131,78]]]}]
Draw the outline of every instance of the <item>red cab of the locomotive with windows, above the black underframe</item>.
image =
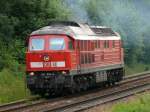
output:
[{"label": "red cab of the locomotive with windows, above the black underframe", "polygon": [[71,67],[73,40],[65,35],[31,36],[27,52],[27,71],[59,71]]}]

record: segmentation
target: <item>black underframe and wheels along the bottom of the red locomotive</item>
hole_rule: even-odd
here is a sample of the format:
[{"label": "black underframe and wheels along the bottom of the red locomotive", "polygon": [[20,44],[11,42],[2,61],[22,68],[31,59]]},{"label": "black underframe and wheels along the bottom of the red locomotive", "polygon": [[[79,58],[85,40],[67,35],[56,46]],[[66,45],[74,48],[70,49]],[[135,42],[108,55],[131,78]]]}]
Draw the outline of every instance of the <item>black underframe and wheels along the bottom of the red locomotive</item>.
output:
[{"label": "black underframe and wheels along the bottom of the red locomotive", "polygon": [[[27,73],[28,74],[28,73]],[[62,74],[62,72],[35,72],[27,75],[27,87],[33,94],[44,95],[62,93],[62,90],[78,92],[96,85],[114,84],[123,79],[124,68],[101,69],[83,74]]]}]

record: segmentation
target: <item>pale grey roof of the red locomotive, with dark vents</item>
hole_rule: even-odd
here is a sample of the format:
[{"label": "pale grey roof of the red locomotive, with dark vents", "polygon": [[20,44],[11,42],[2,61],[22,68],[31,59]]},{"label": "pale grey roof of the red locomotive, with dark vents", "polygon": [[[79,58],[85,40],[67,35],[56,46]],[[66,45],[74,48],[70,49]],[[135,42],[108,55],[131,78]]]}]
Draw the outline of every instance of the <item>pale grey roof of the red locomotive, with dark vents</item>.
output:
[{"label": "pale grey roof of the red locomotive, with dark vents", "polygon": [[40,28],[31,35],[65,34],[77,40],[119,40],[120,36],[111,28],[104,26],[89,26],[76,22],[50,22],[48,26]]}]

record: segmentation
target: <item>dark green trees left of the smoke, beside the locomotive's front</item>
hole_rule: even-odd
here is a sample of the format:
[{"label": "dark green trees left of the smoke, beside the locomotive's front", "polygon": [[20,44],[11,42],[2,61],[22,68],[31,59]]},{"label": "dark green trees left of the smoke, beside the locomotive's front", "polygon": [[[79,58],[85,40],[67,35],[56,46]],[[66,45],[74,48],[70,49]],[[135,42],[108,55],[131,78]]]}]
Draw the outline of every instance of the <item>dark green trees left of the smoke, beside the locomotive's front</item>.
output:
[{"label": "dark green trees left of the smoke, beside the locomotive's front", "polygon": [[0,69],[17,71],[25,63],[27,36],[50,20],[68,19],[63,0],[1,0],[0,1]]}]

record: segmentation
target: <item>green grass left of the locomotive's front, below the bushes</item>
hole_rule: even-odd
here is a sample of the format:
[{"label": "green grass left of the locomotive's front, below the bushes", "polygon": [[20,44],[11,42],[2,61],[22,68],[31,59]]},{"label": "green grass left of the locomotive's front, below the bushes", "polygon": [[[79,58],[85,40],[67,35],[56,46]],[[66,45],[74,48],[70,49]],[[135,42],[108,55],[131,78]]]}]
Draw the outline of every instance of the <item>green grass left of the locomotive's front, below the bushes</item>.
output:
[{"label": "green grass left of the locomotive's front, below the bushes", "polygon": [[3,69],[0,72],[0,104],[29,96],[25,89],[23,76],[23,72],[15,74],[8,69]]}]

